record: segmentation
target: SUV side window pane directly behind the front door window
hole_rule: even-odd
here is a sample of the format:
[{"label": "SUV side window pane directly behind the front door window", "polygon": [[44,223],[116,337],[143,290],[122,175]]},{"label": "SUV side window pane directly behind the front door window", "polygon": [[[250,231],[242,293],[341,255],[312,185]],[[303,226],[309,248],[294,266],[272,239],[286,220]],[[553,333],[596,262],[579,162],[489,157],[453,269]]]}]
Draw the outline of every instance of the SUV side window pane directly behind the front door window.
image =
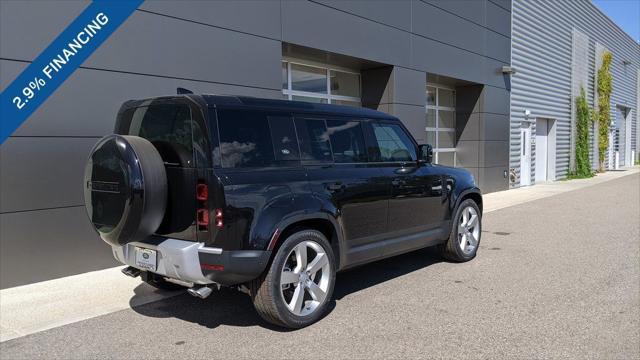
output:
[{"label": "SUV side window pane directly behind the front door window", "polygon": [[327,120],[333,160],[336,163],[366,162],[367,152],[359,121]]}]

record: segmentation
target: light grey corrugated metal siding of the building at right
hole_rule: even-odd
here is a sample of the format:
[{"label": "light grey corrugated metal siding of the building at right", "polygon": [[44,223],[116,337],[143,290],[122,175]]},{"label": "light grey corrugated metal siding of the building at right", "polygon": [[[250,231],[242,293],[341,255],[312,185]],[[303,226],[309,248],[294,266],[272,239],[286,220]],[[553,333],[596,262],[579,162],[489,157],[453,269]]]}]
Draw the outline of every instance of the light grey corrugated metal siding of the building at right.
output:
[{"label": "light grey corrugated metal siding of the building at right", "polygon": [[[520,183],[520,127],[524,110],[529,120],[556,120],[556,178],[566,177],[571,153],[572,34],[575,28],[588,37],[587,96],[595,101],[593,77],[597,70],[595,43],[613,53],[611,116],[616,105],[631,108],[636,119],[636,78],[640,68],[640,45],[618,28],[589,0],[514,0],[512,6],[512,65],[518,71],[511,88],[510,167]],[[629,65],[622,61],[628,60]],[[625,71],[626,67],[626,71]],[[632,149],[636,147],[637,121],[632,124]],[[535,134],[535,129],[532,130]],[[592,140],[593,141],[593,140]],[[532,152],[535,158],[535,152]],[[535,159],[531,178],[535,179]]]}]

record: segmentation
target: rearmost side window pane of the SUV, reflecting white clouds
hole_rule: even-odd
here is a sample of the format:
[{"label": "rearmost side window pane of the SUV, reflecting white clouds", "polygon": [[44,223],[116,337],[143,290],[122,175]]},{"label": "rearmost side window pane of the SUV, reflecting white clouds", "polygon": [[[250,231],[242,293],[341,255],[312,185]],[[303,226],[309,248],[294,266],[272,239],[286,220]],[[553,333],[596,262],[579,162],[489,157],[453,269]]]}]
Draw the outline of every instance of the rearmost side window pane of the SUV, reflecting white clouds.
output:
[{"label": "rearmost side window pane of the SUV, reflecting white clouds", "polygon": [[222,156],[226,168],[271,166],[274,163],[269,124],[263,113],[240,110],[218,110],[220,146],[214,149]]}]

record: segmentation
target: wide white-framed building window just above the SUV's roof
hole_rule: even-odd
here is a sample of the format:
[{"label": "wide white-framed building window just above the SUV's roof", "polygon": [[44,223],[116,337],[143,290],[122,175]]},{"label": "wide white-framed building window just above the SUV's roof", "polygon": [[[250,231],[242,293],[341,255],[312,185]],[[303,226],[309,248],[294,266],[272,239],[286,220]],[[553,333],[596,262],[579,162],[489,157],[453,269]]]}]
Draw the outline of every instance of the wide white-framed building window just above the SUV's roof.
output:
[{"label": "wide white-framed building window just above the SUV's roof", "polygon": [[283,61],[282,94],[288,100],[359,107],[360,74],[345,69]]}]

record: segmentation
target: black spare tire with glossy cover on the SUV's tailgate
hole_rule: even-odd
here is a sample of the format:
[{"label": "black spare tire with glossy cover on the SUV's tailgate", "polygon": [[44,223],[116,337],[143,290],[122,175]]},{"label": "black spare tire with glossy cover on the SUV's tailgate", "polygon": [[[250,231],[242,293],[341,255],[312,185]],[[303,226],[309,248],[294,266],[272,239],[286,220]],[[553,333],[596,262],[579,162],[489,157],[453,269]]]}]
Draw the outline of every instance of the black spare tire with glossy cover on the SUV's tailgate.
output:
[{"label": "black spare tire with glossy cover on the SUV's tailgate", "polygon": [[100,139],[85,168],[84,203],[100,237],[111,245],[153,234],[167,205],[167,175],[158,151],[137,136]]}]

